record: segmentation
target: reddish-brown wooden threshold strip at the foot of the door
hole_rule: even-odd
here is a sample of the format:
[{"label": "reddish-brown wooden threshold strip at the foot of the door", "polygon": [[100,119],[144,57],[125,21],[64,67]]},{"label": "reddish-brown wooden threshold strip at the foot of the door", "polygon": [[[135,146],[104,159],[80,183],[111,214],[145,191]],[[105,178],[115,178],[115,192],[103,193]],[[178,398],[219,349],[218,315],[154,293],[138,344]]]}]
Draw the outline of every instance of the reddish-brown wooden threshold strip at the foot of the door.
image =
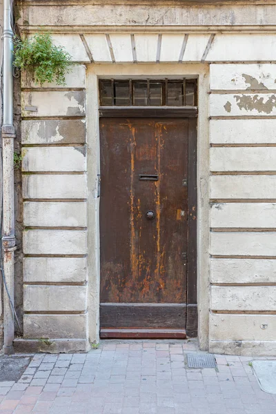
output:
[{"label": "reddish-brown wooden threshold strip at the foot of the door", "polygon": [[100,331],[101,338],[177,338],[186,339],[185,329],[113,329],[102,328]]}]

